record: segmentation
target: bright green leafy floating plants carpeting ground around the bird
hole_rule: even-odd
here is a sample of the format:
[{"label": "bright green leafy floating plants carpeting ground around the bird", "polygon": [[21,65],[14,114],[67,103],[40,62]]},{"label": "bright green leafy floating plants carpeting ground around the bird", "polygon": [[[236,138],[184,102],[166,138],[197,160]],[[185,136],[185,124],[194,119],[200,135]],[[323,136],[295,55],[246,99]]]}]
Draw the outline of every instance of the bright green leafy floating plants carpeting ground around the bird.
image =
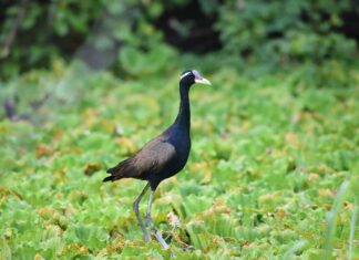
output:
[{"label": "bright green leafy floating plants carpeting ground around the bird", "polygon": [[[28,110],[19,113],[33,123],[0,124],[1,254],[166,256],[156,242],[144,245],[132,212],[144,183],[101,180],[106,166],[172,123],[180,71],[135,81],[71,71],[58,64],[8,85],[28,104],[35,90],[53,91],[37,111],[22,104]],[[314,259],[328,239],[334,256],[348,254],[350,190],[359,190],[358,82],[318,89],[298,76],[293,71],[254,79],[220,69],[209,75],[213,87],[193,89],[189,164],[160,186],[154,207],[156,225],[180,259]],[[334,208],[346,179],[352,189],[346,187]],[[327,233],[330,210],[336,231]],[[167,223],[168,212],[180,228]],[[181,252],[185,243],[195,251]],[[358,240],[355,248],[358,256]]]}]

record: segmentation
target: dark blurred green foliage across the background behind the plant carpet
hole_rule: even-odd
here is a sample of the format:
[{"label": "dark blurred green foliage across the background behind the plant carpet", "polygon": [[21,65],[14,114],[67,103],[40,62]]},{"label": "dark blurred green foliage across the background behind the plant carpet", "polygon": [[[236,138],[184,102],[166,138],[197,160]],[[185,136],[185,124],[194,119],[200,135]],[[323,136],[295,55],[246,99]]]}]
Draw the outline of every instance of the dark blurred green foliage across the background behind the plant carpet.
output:
[{"label": "dark blurred green foliage across the background behind the plant carpet", "polygon": [[[164,64],[172,63],[182,48],[181,42],[168,46],[166,28],[182,40],[194,38],[203,33],[195,31],[199,20],[211,21],[206,30],[219,35],[222,48],[213,50],[219,53],[218,65],[228,62],[239,69],[254,63],[276,69],[307,61],[322,64],[328,59],[350,62],[358,55],[357,43],[345,35],[342,25],[346,12],[358,11],[353,4],[350,0],[28,1],[0,73],[10,76],[47,67],[54,58],[79,58],[83,45],[90,49],[88,55],[93,50],[111,53],[112,67],[120,72],[155,73],[167,67]],[[3,3],[0,45],[21,8],[18,2]],[[175,17],[175,10],[185,14]],[[193,18],[196,12],[198,20]]]}]

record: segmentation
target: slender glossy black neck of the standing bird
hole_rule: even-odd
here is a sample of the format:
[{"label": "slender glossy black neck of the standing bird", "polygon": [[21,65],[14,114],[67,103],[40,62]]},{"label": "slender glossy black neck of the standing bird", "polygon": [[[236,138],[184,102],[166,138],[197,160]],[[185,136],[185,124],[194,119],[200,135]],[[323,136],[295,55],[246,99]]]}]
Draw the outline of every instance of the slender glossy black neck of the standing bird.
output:
[{"label": "slender glossy black neck of the standing bird", "polygon": [[189,87],[186,85],[180,85],[180,111],[175,121],[175,125],[180,128],[184,128],[189,133],[191,127],[191,110],[189,110]]}]

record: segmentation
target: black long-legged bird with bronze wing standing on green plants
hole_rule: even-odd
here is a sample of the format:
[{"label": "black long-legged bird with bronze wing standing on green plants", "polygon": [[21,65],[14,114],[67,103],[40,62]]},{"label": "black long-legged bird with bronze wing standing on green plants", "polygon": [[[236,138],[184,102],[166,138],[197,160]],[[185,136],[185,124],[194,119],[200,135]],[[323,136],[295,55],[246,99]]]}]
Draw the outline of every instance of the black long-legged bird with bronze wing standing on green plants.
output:
[{"label": "black long-legged bird with bronze wing standing on green plants", "polygon": [[180,112],[175,122],[165,132],[148,142],[136,153],[136,155],[107,169],[107,174],[111,176],[103,179],[103,181],[114,181],[122,178],[136,178],[148,181],[133,202],[133,209],[144,233],[144,239],[147,242],[150,240],[150,235],[140,216],[139,205],[142,197],[151,187],[145,219],[164,249],[167,249],[168,246],[153,225],[151,206],[158,184],[177,174],[187,163],[191,149],[191,111],[188,94],[194,83],[211,85],[211,82],[201,76],[195,70],[183,72],[180,79]]}]

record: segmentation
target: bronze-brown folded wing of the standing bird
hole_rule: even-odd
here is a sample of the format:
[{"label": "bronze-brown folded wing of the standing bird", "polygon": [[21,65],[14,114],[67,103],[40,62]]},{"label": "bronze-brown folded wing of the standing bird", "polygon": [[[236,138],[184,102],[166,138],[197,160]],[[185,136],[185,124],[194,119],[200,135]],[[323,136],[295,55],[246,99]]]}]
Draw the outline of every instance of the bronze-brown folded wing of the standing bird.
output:
[{"label": "bronze-brown folded wing of the standing bird", "polygon": [[111,176],[105,178],[104,181],[113,181],[126,177],[145,179],[150,173],[160,173],[175,157],[175,147],[161,135],[148,142],[135,156],[107,169]]}]

